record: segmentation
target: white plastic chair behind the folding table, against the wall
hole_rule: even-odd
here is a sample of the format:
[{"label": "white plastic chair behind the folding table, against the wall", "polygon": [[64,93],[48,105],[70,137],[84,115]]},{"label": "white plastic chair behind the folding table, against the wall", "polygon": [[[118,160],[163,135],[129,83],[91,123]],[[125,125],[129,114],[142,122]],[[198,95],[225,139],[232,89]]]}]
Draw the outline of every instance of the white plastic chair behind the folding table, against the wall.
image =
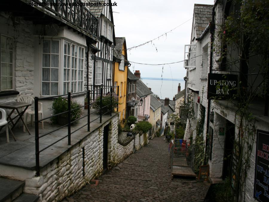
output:
[{"label": "white plastic chair behind the folding table, against the wall", "polygon": [[[26,103],[32,103],[32,105],[30,107],[28,107],[28,109],[25,111],[24,113],[24,117],[23,117],[23,121],[25,122],[25,124],[27,124],[27,117],[28,115],[31,116],[31,126],[33,125],[33,120],[34,120],[34,115],[35,115],[35,110],[34,110],[34,98],[29,96],[29,95],[20,95],[17,98],[18,102],[26,102]],[[25,108],[23,107],[23,110]],[[38,102],[38,114],[41,114],[41,119],[43,119],[43,107],[42,107],[42,103]],[[44,123],[42,121],[42,129],[44,129]],[[26,132],[25,126],[23,126],[23,131]]]}]

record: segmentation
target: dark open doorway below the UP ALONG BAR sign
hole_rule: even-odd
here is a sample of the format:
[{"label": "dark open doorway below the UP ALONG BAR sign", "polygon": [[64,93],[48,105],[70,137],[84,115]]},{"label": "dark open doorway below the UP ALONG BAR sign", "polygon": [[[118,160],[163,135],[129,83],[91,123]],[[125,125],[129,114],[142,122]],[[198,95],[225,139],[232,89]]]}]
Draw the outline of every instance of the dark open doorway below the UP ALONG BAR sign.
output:
[{"label": "dark open doorway below the UP ALONG BAR sign", "polygon": [[234,124],[226,120],[225,142],[224,142],[224,159],[222,168],[222,179],[231,178],[232,154],[234,144],[235,127]]}]

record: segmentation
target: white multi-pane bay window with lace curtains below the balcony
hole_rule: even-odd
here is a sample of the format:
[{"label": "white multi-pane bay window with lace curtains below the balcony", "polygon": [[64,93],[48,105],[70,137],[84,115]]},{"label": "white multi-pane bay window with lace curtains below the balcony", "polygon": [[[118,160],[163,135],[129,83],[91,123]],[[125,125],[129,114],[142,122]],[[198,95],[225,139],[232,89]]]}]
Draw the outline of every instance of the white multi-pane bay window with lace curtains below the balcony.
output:
[{"label": "white multi-pane bay window with lace curtains below the balcony", "polygon": [[[44,39],[42,43],[42,95],[82,92],[84,47],[62,40]],[[60,48],[63,51],[60,51]],[[63,59],[60,59],[60,52]],[[63,61],[60,62],[60,61]]]}]

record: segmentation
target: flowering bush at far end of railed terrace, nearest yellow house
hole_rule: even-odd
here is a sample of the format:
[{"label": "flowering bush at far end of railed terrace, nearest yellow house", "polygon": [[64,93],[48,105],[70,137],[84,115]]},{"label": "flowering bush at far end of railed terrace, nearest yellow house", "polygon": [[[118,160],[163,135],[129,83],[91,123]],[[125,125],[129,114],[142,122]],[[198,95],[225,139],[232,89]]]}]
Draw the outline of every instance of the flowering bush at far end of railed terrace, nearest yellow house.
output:
[{"label": "flowering bush at far end of railed terrace, nearest yellow house", "polygon": [[[100,104],[101,104],[100,95],[98,95],[94,101],[95,102],[92,104],[92,107],[94,109],[99,110],[99,112],[100,112]],[[115,111],[117,104],[118,104],[118,96],[117,96],[117,94],[112,92],[112,112]],[[108,113],[109,110],[110,110],[110,93],[108,93],[107,95],[102,95],[102,114]]]}]

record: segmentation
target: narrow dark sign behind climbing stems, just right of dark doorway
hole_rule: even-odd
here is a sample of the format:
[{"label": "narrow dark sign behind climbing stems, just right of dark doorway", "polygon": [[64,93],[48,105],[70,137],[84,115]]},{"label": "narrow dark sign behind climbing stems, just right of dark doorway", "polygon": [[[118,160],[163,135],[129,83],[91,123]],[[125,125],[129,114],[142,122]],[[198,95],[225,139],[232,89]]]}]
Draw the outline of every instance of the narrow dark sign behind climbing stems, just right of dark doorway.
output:
[{"label": "narrow dark sign behind climbing stems, just right of dark doorway", "polygon": [[241,155],[241,147],[236,140],[233,143],[233,155],[232,155],[232,188],[236,189],[239,185],[236,184],[236,178],[240,175],[239,159]]}]

